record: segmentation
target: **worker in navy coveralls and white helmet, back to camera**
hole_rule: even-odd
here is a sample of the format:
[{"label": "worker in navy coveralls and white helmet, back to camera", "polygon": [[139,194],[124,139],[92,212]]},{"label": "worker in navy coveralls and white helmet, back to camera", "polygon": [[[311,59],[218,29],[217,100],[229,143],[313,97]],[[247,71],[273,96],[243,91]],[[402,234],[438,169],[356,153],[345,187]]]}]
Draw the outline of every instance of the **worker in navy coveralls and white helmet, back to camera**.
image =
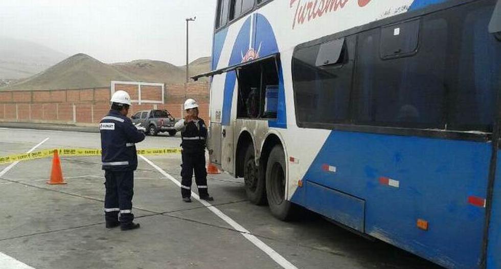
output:
[{"label": "worker in navy coveralls and white helmet, back to camera", "polygon": [[120,226],[122,231],[137,229],[140,226],[139,223],[132,222],[132,196],[134,171],[138,167],[135,143],[143,141],[145,134],[127,117],[130,105],[127,92],[115,92],[111,97],[111,110],[99,124],[101,157],[106,178],[106,228]]}]

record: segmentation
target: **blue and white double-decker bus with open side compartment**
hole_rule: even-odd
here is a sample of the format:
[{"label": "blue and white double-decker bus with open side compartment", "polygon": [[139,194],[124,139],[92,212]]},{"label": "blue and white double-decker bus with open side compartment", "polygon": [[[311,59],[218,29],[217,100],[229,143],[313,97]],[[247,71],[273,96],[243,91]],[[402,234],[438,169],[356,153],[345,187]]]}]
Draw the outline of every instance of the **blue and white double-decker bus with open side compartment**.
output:
[{"label": "blue and white double-decker bus with open side compartment", "polygon": [[501,268],[501,1],[218,0],[211,162],[447,268]]}]

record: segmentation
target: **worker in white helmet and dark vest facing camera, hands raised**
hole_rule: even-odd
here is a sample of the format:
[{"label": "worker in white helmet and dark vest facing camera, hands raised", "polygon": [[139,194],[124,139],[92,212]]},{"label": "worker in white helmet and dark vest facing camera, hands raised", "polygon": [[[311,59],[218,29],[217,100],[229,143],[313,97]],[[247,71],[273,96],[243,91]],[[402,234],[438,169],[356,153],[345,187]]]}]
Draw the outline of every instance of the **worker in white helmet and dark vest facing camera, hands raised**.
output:
[{"label": "worker in white helmet and dark vest facing camera, hands raised", "polygon": [[198,117],[198,103],[194,99],[185,101],[186,117],[174,125],[177,131],[181,131],[181,147],[183,147],[183,164],[181,165],[181,197],[183,201],[191,202],[191,183],[193,171],[198,186],[200,199],[213,201],[207,188],[206,170],[206,140],[207,126]]}]

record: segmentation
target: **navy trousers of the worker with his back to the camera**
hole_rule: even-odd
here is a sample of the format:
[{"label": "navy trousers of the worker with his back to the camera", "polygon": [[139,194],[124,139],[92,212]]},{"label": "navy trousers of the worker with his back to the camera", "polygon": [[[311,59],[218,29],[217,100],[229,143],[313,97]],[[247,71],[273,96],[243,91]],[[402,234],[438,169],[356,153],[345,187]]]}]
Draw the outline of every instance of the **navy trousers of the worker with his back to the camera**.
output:
[{"label": "navy trousers of the worker with his back to the camera", "polygon": [[134,171],[110,171],[105,170],[106,195],[104,197],[104,214],[107,223],[119,221],[131,223],[134,219],[132,214],[132,196],[134,195]]}]

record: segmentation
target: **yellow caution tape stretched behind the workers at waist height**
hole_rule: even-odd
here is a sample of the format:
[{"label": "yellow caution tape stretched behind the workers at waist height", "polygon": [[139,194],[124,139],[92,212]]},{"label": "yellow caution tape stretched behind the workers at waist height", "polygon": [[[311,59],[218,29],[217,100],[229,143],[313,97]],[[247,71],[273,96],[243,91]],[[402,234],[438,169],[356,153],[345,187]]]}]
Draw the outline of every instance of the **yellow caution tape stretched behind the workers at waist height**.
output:
[{"label": "yellow caution tape stretched behind the workers at waist height", "polygon": [[[66,149],[45,149],[34,151],[31,153],[12,154],[0,157],[0,164],[9,164],[14,162],[21,162],[24,160],[41,159],[52,157],[54,151],[57,150],[59,156],[101,156],[101,149],[90,148],[66,148]],[[180,148],[156,148],[156,149],[138,149],[138,154],[141,155],[165,155],[165,154],[179,154]]]}]

